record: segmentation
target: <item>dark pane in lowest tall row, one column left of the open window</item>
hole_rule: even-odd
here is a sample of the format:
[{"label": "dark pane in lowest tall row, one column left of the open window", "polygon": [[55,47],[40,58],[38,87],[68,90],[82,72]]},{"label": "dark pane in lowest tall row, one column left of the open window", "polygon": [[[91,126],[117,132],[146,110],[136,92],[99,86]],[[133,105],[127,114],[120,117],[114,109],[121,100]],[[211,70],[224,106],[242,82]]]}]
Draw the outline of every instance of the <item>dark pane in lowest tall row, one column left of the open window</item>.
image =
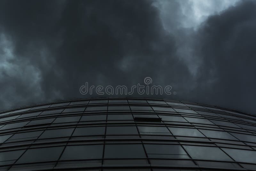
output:
[{"label": "dark pane in lowest tall row, one column left of the open window", "polygon": [[146,158],[141,144],[106,144],[104,158]]}]

